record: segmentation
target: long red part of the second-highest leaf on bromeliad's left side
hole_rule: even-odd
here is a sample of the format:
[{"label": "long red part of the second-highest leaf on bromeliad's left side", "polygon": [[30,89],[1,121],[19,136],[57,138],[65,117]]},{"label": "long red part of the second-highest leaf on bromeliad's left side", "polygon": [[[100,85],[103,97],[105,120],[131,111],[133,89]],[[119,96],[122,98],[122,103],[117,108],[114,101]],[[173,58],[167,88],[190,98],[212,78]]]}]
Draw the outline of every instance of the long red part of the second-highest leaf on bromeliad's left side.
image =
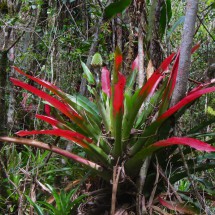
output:
[{"label": "long red part of the second-highest leaf on bromeliad's left side", "polygon": [[54,107],[56,107],[58,110],[60,110],[62,113],[64,113],[66,116],[68,116],[70,119],[82,119],[74,110],[72,110],[69,106],[65,105],[64,103],[58,101],[54,97],[50,96],[49,94],[37,89],[36,87],[32,87],[29,84],[26,84],[22,81],[19,81],[15,78],[10,78],[10,80],[13,82],[14,85],[22,87],[23,89],[26,89],[33,94],[39,96],[40,98],[48,101],[50,104],[52,104]]}]

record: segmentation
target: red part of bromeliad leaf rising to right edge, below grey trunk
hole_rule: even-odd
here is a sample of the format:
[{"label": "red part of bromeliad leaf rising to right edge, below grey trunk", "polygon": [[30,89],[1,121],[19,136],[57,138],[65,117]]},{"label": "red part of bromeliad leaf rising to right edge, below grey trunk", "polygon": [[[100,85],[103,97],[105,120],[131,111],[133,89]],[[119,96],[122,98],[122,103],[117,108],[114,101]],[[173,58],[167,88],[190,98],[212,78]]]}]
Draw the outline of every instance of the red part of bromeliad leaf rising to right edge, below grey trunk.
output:
[{"label": "red part of bromeliad leaf rising to right edge, below grey trunk", "polygon": [[209,88],[206,88],[206,89],[203,89],[203,90],[198,90],[198,91],[195,91],[195,92],[189,94],[188,96],[186,96],[185,98],[183,98],[180,102],[178,102],[175,106],[171,107],[164,114],[162,114],[157,119],[157,121],[167,119],[172,114],[174,114],[176,111],[178,111],[180,108],[182,108],[185,105],[191,103],[192,101],[194,101],[195,99],[199,98],[203,94],[211,93],[211,92],[214,92],[214,91],[215,91],[215,87],[209,87]]}]

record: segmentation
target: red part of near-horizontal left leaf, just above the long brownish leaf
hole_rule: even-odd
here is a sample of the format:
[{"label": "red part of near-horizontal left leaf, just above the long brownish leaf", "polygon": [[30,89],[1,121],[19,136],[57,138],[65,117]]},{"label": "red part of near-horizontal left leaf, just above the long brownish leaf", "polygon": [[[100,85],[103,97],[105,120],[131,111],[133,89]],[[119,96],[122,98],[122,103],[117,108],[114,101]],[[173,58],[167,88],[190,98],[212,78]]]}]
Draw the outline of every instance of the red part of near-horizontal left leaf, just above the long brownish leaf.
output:
[{"label": "red part of near-horizontal left leaf, just above the long brownish leaf", "polygon": [[[33,130],[33,131],[18,131],[16,135],[20,137],[34,135],[34,134],[48,134],[48,135],[55,135],[64,137],[68,140],[78,143],[83,148],[88,148],[88,143],[92,143],[93,141],[82,134],[77,132],[69,131],[69,130],[62,130],[62,129],[55,129],[55,130]],[[87,143],[85,143],[85,142]]]}]

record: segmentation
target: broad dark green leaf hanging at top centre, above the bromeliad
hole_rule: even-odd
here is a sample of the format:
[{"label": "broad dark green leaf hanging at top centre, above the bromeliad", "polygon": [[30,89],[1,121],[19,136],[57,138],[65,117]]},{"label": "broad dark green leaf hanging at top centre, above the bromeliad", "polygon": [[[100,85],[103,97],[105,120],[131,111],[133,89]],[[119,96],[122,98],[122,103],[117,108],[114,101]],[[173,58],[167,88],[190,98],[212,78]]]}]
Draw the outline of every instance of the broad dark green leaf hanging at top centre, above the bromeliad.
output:
[{"label": "broad dark green leaf hanging at top centre, above the bromeliad", "polygon": [[104,19],[111,19],[118,13],[122,13],[130,4],[132,0],[116,0],[109,4],[104,11]]}]

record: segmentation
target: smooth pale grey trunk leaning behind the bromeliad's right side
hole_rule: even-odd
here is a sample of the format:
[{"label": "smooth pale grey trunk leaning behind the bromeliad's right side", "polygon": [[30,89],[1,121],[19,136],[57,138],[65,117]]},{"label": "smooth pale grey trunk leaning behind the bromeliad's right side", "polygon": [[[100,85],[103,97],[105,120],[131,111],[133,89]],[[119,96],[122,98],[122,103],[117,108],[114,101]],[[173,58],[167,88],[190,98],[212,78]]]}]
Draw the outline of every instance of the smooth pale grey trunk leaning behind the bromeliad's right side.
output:
[{"label": "smooth pale grey trunk leaning behind the bromeliad's right side", "polygon": [[188,76],[191,63],[191,48],[195,32],[197,10],[198,0],[188,0],[180,49],[178,76],[175,90],[173,92],[171,106],[180,101],[185,96],[187,91]]}]

